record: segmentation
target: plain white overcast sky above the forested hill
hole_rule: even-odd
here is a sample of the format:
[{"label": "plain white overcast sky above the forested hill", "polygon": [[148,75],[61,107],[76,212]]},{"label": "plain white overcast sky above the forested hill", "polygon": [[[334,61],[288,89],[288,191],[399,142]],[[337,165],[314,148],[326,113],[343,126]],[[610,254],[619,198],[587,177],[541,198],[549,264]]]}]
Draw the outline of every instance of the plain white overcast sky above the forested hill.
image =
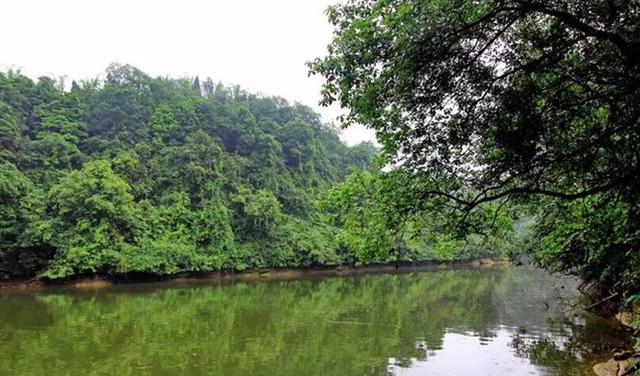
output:
[{"label": "plain white overcast sky above the forested hill", "polygon": [[[321,107],[320,77],[305,62],[326,54],[336,0],[5,0],[0,70],[36,78],[95,78],[112,62],[152,76],[211,77],[264,95]],[[353,127],[342,139],[375,140]]]}]

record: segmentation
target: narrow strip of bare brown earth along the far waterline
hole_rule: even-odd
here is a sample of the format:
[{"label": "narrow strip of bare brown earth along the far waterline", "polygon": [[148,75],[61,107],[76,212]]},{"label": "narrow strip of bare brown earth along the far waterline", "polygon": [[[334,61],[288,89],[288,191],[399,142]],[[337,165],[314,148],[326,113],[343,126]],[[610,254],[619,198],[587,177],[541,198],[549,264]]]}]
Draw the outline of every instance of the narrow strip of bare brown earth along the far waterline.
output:
[{"label": "narrow strip of bare brown earth along the far waterline", "polygon": [[370,264],[362,266],[337,265],[327,267],[310,268],[261,268],[246,269],[242,271],[226,270],[212,273],[180,273],[173,275],[153,275],[153,274],[120,274],[120,275],[95,275],[85,276],[66,280],[45,280],[45,279],[22,279],[22,280],[0,280],[0,291],[25,290],[38,291],[52,288],[77,288],[77,289],[99,289],[107,288],[121,283],[138,282],[171,282],[189,280],[210,280],[210,281],[256,281],[256,280],[288,280],[313,276],[349,275],[364,273],[384,273],[384,272],[411,272],[424,268],[442,267],[494,267],[497,265],[510,264],[511,260],[504,257],[481,258],[455,261],[422,261],[414,263],[396,264]]}]

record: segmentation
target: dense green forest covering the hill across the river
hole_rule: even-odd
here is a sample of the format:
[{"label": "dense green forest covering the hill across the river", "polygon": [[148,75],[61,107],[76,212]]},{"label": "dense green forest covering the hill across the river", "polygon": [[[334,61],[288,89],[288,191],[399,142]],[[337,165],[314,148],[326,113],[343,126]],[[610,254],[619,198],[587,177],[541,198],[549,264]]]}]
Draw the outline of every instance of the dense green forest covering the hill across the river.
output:
[{"label": "dense green forest covering the hill across the river", "polygon": [[0,145],[4,278],[452,260],[515,236],[513,213],[500,237],[402,216],[373,144],[211,79],[0,73]]}]

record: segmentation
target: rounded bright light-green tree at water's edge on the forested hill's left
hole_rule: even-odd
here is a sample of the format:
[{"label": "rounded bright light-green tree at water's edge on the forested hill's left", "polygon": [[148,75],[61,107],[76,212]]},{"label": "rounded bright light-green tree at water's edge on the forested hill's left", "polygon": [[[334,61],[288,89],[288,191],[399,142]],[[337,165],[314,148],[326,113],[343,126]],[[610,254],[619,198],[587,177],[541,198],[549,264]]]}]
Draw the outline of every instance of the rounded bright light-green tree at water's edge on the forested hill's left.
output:
[{"label": "rounded bright light-green tree at water's edge on the forested hill's left", "polygon": [[135,239],[138,216],[131,188],[108,161],[88,162],[67,173],[49,191],[56,218],[52,244],[57,248],[48,278],[76,273],[111,273]]}]

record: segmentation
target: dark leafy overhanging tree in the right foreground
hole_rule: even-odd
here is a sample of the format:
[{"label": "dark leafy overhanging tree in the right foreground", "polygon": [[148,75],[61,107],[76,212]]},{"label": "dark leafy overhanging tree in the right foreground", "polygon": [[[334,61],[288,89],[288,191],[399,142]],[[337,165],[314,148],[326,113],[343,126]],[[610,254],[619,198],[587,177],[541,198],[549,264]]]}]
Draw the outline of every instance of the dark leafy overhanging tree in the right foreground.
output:
[{"label": "dark leafy overhanging tree in the right foreground", "polygon": [[407,210],[455,207],[466,226],[486,203],[525,204],[538,260],[631,296],[639,14],[637,1],[348,0],[310,68],[346,125],[375,129],[387,161],[424,181]]}]

